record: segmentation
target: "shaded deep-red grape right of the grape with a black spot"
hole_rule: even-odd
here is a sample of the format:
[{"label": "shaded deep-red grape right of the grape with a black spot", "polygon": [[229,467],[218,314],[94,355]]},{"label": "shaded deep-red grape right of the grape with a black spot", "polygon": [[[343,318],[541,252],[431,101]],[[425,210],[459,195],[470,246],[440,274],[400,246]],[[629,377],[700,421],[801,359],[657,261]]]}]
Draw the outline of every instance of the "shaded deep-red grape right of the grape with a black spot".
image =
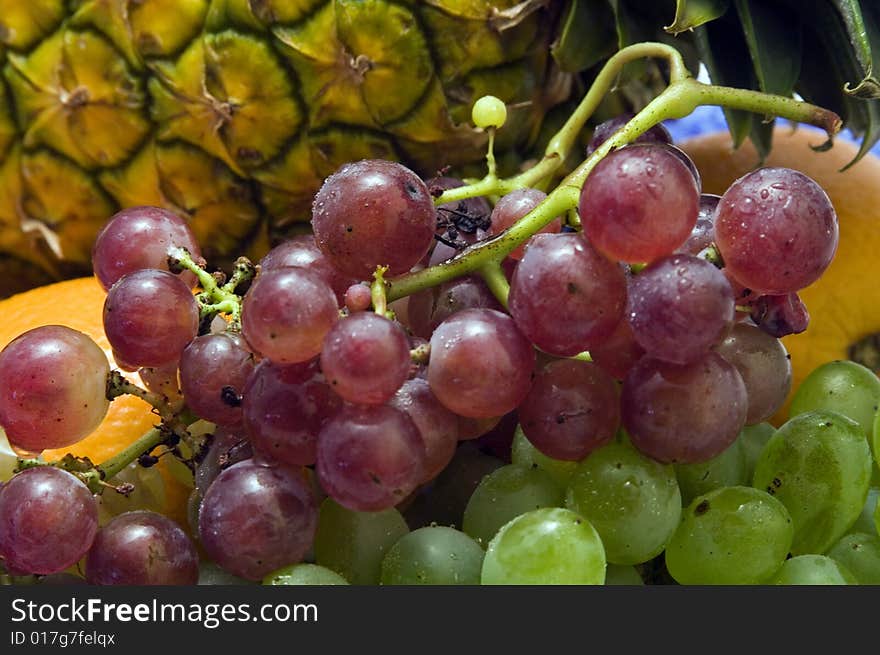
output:
[{"label": "shaded deep-red grape right of the grape with a black spot", "polygon": [[242,398],[244,429],[254,449],[270,460],[315,463],[321,427],[342,409],[323,376],[300,365],[257,364]]}]

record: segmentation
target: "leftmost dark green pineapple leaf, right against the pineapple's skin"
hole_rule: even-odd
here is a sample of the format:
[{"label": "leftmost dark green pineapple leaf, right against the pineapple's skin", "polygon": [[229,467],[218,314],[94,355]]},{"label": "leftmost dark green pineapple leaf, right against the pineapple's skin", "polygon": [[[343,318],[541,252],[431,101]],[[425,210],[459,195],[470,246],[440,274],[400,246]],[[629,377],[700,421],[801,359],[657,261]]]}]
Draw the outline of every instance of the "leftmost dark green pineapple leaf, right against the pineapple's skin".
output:
[{"label": "leftmost dark green pineapple leaf, right against the pineapple's skin", "polygon": [[608,0],[571,0],[550,53],[565,72],[586,70],[614,54],[615,28]]}]

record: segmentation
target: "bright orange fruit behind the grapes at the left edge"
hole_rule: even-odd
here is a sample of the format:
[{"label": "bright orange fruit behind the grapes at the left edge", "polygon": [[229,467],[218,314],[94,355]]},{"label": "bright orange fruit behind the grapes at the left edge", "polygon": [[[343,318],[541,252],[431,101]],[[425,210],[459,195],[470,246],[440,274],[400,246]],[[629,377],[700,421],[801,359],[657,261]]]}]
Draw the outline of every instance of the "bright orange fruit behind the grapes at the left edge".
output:
[{"label": "bright orange fruit behind the grapes at the left edge", "polygon": [[[105,293],[93,277],[77,278],[38,287],[0,300],[0,349],[19,334],[41,325],[66,325],[87,334],[106,353],[113,355],[104,336]],[[132,378],[133,381],[139,380]],[[46,450],[43,458],[59,459],[66,453],[88,457],[95,464],[109,459],[158,423],[146,402],[123,395],[110,403],[107,416],[88,437],[68,448]],[[160,460],[161,462],[162,460]],[[186,498],[189,489],[174,478],[167,466],[160,465],[165,482],[165,513],[186,526]]]}]

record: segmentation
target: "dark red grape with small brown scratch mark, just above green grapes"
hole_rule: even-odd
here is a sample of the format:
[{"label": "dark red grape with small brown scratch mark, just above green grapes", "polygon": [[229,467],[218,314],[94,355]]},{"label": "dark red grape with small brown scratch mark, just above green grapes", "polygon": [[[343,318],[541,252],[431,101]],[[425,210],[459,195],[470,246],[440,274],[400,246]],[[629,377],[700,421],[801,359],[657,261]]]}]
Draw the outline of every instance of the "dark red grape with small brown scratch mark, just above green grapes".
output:
[{"label": "dark red grape with small brown scratch mark, just above green grapes", "polygon": [[520,403],[523,432],[548,457],[579,461],[620,425],[617,386],[591,362],[560,359],[542,368]]}]

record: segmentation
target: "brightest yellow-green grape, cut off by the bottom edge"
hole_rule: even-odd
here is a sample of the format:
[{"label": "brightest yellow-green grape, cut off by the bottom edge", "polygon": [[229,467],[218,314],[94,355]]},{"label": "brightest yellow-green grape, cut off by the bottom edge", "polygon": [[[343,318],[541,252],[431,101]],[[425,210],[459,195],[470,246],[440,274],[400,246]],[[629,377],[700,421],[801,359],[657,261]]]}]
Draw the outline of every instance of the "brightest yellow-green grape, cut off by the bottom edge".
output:
[{"label": "brightest yellow-green grape, cut off by the bottom edge", "polygon": [[600,585],[605,550],[584,517],[560,507],[526,512],[505,524],[489,542],[482,584]]}]

